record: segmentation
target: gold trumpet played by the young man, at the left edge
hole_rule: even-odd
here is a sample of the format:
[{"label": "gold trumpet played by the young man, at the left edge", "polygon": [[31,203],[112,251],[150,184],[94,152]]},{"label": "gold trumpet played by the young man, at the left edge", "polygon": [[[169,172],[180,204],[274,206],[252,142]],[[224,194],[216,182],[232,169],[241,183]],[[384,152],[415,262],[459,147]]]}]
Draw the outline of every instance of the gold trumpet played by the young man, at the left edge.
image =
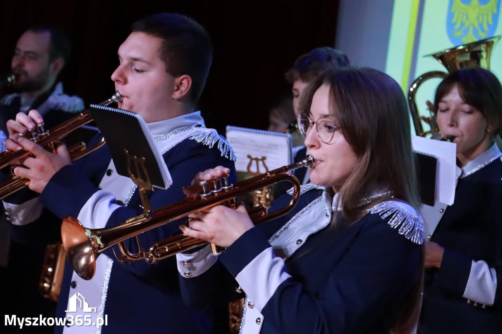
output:
[{"label": "gold trumpet played by the young man, at the left edge", "polygon": [[[115,92],[109,99],[100,103],[100,105],[108,105],[113,102],[120,101],[122,96],[119,92]],[[72,131],[78,129],[79,127],[92,121],[92,116],[89,110],[82,111],[76,116],[68,119],[67,121],[55,126],[50,131],[44,129],[44,124],[37,125],[37,131],[32,131],[32,138],[34,142],[44,147],[46,150],[55,153],[56,148],[54,142],[57,140],[62,140]],[[104,144],[104,139],[89,147],[86,147],[85,143],[80,142],[72,145],[68,148],[71,160],[75,161],[82,156],[89,154],[90,152],[98,149]],[[27,157],[31,153],[25,149],[20,149],[19,151],[7,150],[0,153],[0,169],[7,166],[14,166],[20,164],[21,159]],[[10,180],[7,180],[0,184],[0,200],[14,194],[18,190],[30,184],[30,180],[25,178],[20,178],[18,176],[13,176]]]}]

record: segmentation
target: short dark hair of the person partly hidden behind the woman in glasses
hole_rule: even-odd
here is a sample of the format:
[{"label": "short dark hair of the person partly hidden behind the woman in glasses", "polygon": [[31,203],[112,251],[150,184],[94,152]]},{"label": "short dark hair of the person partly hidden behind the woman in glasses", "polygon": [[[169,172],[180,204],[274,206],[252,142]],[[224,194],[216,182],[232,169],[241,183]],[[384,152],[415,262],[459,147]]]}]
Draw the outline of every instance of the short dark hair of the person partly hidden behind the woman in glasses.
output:
[{"label": "short dark hair of the person partly hidden behind the woman in glasses", "polygon": [[329,47],[321,47],[301,55],[293,67],[286,72],[285,79],[290,84],[296,80],[310,82],[329,68],[348,67],[350,61],[346,54]]}]

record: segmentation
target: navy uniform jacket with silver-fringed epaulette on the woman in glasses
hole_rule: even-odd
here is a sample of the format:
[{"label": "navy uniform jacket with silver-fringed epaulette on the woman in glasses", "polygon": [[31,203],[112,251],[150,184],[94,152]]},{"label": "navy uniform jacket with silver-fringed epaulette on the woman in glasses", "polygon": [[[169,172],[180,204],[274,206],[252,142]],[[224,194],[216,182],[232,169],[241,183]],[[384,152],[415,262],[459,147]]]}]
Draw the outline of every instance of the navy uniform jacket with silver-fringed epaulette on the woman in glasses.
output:
[{"label": "navy uniform jacket with silver-fringed epaulette on the woman in glasses", "polygon": [[[218,260],[207,248],[177,254],[184,300],[207,307],[245,293],[246,334],[388,332],[419,279],[420,216],[388,201],[332,230],[336,196],[307,188],[292,212],[248,230]],[[400,233],[405,225],[415,233]]]}]

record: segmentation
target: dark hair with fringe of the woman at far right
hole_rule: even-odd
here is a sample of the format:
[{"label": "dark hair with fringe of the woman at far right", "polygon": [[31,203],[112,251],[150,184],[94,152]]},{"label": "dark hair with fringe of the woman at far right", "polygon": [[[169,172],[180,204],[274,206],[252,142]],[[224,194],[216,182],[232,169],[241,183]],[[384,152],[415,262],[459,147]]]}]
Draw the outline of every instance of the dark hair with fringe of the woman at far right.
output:
[{"label": "dark hair with fringe of the woman at far right", "polygon": [[493,127],[491,136],[501,134],[502,85],[497,77],[483,68],[463,68],[450,73],[436,88],[435,110],[438,110],[439,101],[455,86],[462,100],[479,110]]}]

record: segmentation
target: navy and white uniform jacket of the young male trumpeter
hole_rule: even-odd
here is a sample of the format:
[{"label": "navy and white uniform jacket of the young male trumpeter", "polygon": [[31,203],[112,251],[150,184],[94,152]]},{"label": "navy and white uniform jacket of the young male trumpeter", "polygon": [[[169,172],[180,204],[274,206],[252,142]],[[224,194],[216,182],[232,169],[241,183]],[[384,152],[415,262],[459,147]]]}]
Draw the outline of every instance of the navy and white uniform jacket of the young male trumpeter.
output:
[{"label": "navy and white uniform jacket of the young male trumpeter", "polygon": [[[190,185],[201,169],[228,166],[233,171],[230,181],[235,182],[233,150],[215,130],[204,127],[200,112],[149,123],[148,127],[173,179],[172,186],[167,190],[158,189],[149,194],[154,212],[186,198],[182,187]],[[68,215],[77,217],[86,228],[119,225],[143,212],[136,186],[131,179],[117,175],[106,146],[58,171],[39,201],[60,218]],[[19,221],[19,213],[24,212],[24,205],[11,206],[11,221],[14,224]],[[180,223],[172,222],[141,234],[142,246],[149,248],[171,237],[179,230]],[[127,240],[126,245],[132,252],[137,251],[134,240]],[[93,317],[107,315],[108,326],[96,332],[209,332],[210,311],[191,309],[181,300],[174,258],[155,265],[143,260],[123,265],[116,261],[112,249],[119,254],[116,246],[101,254],[96,261],[96,274],[88,281],[78,277],[67,263],[58,315],[64,316],[69,297],[79,292],[90,307],[97,308],[97,312],[91,314]],[[166,322],[163,317],[152,318],[152,309],[165,313],[171,319],[184,321]],[[128,321],[123,321],[124,314],[127,314]],[[65,333],[89,332],[86,326],[56,328],[56,331],[62,329]]]}]

